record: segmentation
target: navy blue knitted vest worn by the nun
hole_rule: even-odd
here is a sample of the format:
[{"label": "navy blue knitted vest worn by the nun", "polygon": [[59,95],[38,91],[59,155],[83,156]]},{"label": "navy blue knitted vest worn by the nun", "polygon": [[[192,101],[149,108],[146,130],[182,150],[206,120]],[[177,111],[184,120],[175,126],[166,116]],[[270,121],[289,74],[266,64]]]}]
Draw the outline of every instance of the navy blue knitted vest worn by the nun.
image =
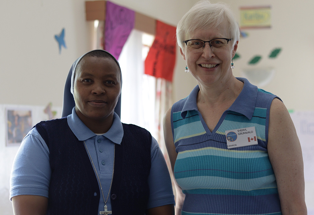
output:
[{"label": "navy blue knitted vest worn by the nun", "polygon": [[[121,145],[116,144],[110,195],[112,213],[145,214],[151,134],[135,125],[122,125],[124,135]],[[97,177],[84,143],[73,134],[67,118],[42,121],[35,127],[49,148],[52,172],[47,214],[99,214]]]}]

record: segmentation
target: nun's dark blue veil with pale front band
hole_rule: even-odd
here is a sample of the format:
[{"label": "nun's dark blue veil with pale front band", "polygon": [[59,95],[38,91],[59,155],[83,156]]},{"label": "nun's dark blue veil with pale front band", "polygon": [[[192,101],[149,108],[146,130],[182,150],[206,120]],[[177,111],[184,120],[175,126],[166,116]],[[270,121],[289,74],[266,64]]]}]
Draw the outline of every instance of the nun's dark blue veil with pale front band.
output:
[{"label": "nun's dark blue veil with pale front band", "polygon": [[[112,56],[112,59],[114,59],[116,61],[116,63],[118,64],[118,66],[119,66],[120,81],[121,81],[121,86],[122,86],[121,68],[120,68],[119,62],[116,60],[116,58],[113,55],[111,55],[108,51],[105,51],[105,50],[102,50],[102,49],[96,49],[96,50],[92,50],[92,51],[104,51],[104,52],[108,53],[110,56]],[[68,77],[67,77],[67,80],[66,80],[66,83],[65,83],[65,86],[64,86],[62,117],[65,117],[65,116],[68,116],[69,114],[71,114],[72,113],[72,109],[75,106],[73,92],[74,92],[74,78],[75,78],[76,67],[77,67],[78,63],[80,62],[80,60],[82,60],[82,58],[85,55],[87,55],[88,53],[90,53],[92,51],[89,51],[89,52],[85,53],[84,55],[80,56],[72,64],[72,67],[71,67],[71,69],[70,69],[70,71],[68,73]],[[115,112],[120,117],[120,113],[121,113],[121,94],[120,94],[118,103],[116,105]]]}]

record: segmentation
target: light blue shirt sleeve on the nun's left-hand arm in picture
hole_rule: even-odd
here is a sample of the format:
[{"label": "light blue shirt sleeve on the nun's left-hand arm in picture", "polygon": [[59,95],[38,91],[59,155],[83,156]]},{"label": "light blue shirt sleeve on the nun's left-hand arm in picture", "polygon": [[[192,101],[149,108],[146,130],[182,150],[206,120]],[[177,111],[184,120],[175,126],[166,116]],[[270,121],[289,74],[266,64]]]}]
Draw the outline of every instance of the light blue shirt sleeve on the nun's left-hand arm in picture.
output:
[{"label": "light blue shirt sleeve on the nun's left-hand arm in picture", "polygon": [[14,158],[10,199],[18,195],[48,197],[50,176],[49,149],[36,128],[33,128],[23,139]]}]

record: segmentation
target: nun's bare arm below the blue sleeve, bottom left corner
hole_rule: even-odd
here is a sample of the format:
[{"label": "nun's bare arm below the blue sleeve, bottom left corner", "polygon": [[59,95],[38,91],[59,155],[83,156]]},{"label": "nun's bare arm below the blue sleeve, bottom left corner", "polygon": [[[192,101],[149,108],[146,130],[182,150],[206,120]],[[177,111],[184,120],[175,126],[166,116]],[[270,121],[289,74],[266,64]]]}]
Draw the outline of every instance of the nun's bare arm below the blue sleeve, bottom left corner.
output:
[{"label": "nun's bare arm below the blue sleeve, bottom left corner", "polygon": [[20,195],[12,197],[14,215],[45,215],[48,198],[44,196]]}]

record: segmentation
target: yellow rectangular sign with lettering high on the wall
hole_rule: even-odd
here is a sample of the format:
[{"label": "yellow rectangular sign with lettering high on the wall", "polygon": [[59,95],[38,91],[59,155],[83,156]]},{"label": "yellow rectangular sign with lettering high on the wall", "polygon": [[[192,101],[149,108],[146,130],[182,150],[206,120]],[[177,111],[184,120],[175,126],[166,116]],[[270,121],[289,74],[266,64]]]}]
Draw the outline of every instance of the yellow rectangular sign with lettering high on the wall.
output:
[{"label": "yellow rectangular sign with lettering high on the wall", "polygon": [[271,27],[270,6],[241,7],[240,27],[270,28]]}]

